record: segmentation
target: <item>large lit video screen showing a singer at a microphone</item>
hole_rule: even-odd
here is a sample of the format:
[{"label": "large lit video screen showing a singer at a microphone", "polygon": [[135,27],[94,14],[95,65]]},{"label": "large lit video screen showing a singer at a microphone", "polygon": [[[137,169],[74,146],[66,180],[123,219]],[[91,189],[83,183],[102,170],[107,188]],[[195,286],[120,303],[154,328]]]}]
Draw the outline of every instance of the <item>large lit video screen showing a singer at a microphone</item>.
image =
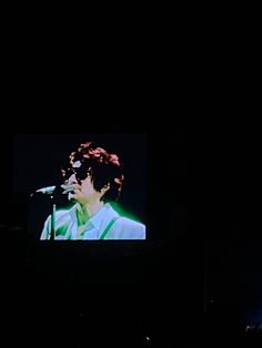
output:
[{"label": "large lit video screen showing a singer at a microphone", "polygon": [[144,133],[17,135],[13,186],[38,240],[144,240]]}]

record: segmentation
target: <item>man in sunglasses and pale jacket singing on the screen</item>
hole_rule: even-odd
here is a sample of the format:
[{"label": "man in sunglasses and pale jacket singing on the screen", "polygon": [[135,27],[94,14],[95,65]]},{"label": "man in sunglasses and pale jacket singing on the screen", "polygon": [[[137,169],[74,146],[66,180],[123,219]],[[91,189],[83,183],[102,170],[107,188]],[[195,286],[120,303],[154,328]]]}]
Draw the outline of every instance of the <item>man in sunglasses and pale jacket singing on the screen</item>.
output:
[{"label": "man in sunglasses and pale jacket singing on the screen", "polygon": [[[118,199],[124,178],[119,156],[87,142],[69,160],[70,167],[62,175],[64,193],[74,205],[56,213],[53,238],[145,239],[145,226],[120,216],[110,204]],[[50,215],[41,239],[50,239],[51,221]]]}]

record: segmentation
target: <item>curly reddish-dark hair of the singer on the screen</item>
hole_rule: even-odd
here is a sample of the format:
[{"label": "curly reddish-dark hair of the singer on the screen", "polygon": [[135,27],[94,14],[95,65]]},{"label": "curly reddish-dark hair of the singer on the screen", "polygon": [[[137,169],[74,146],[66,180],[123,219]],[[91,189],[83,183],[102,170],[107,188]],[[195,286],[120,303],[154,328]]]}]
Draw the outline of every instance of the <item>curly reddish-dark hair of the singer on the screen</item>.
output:
[{"label": "curly reddish-dark hair of the singer on the screen", "polygon": [[[108,153],[94,142],[87,142],[80,144],[78,150],[70,154],[69,161],[80,180],[84,180],[90,174],[93,187],[98,192],[110,184],[101,201],[109,202],[119,198],[124,176],[118,155]],[[79,167],[74,166],[75,162],[80,162]],[[67,176],[64,171],[62,174]]]}]

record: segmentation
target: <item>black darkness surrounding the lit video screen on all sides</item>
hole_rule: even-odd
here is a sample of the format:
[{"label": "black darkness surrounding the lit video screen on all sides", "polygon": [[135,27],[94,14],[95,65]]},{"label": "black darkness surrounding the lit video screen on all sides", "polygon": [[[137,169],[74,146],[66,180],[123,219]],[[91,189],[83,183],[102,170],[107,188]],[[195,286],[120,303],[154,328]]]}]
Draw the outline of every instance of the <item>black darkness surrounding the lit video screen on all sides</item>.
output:
[{"label": "black darkness surrounding the lit video screen on all sides", "polygon": [[[261,320],[261,18],[240,8],[155,10],[105,28],[101,11],[74,27],[71,17],[60,25],[61,14],[39,12],[17,21],[12,10],[4,25],[1,298],[10,346],[202,347],[201,334],[210,347],[255,342],[244,329]],[[11,188],[13,139],[83,126],[147,133],[147,243],[58,248],[24,228],[28,203]]]}]

